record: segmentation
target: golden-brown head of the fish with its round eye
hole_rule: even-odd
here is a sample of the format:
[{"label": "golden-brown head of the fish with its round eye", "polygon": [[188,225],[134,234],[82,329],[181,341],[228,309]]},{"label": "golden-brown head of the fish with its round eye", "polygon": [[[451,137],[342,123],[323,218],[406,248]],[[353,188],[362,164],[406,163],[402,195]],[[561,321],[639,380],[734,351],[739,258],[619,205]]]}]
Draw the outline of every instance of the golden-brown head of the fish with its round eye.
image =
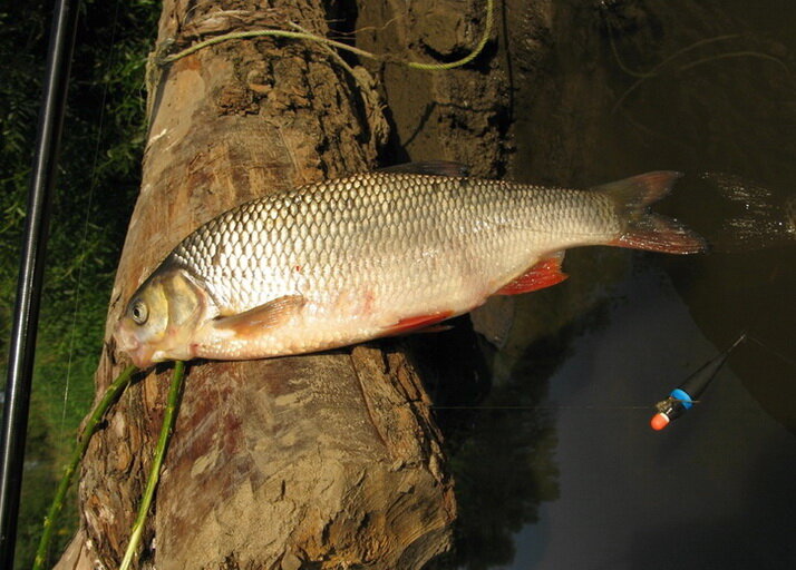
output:
[{"label": "golden-brown head of the fish with its round eye", "polygon": [[114,336],[139,368],[191,360],[192,336],[206,318],[208,295],[185,269],[162,266],[133,294]]}]

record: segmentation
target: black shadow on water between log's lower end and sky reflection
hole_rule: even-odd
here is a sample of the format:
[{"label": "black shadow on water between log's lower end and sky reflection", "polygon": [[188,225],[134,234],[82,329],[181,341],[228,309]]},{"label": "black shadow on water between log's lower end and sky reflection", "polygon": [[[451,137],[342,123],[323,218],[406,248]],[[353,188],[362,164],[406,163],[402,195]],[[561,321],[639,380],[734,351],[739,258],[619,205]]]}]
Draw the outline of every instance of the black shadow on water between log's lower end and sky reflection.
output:
[{"label": "black shadow on water between log's lower end and sky reflection", "polygon": [[[454,552],[429,569],[511,563],[517,531],[538,520],[542,503],[557,499],[549,380],[569,357],[573,338],[604,323],[606,315],[600,304],[559,333],[541,337],[527,346],[509,376],[495,384],[488,366],[494,351],[473,342],[467,320],[436,338],[409,341],[421,353],[418,360],[429,379],[459,508]],[[480,364],[473,367],[474,360]]]}]

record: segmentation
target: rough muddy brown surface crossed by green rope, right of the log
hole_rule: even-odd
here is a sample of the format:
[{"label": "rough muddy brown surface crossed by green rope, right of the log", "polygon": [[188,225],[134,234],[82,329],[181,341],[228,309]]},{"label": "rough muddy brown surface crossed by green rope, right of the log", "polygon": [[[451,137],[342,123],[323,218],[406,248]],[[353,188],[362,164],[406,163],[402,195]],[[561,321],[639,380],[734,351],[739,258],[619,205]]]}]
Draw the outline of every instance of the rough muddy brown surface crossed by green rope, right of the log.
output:
[{"label": "rough muddy brown surface crossed by green rope, right of the log", "polygon": [[[485,22],[484,2],[382,0],[360,6],[358,45],[411,61],[464,57],[478,42]],[[379,78],[389,104],[394,155],[405,160],[456,160],[467,165],[474,176],[494,177],[505,171],[511,147],[511,87],[507,39],[498,33],[503,13],[495,11],[491,41],[474,65],[428,72],[365,62]]]}]

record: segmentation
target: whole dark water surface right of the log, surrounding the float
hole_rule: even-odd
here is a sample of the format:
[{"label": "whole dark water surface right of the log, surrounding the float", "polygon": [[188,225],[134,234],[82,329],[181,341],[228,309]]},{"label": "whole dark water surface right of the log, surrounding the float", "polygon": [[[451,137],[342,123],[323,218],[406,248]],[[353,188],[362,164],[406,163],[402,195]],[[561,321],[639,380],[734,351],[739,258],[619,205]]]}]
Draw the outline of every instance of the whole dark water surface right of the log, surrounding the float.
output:
[{"label": "whole dark water surface right of the log, surrounding the float", "polygon": [[[735,206],[698,173],[765,180],[788,204],[796,4],[566,0],[550,23],[550,78],[516,92],[515,178],[681,170],[663,212],[711,237]],[[522,302],[492,392],[462,399],[537,410],[466,422],[440,411],[468,430],[450,450],[458,550],[437,568],[796,566],[796,243],[766,245],[567,254],[573,277]],[[760,344],[740,346],[697,410],[652,432],[659,394],[741,331]]]}]

